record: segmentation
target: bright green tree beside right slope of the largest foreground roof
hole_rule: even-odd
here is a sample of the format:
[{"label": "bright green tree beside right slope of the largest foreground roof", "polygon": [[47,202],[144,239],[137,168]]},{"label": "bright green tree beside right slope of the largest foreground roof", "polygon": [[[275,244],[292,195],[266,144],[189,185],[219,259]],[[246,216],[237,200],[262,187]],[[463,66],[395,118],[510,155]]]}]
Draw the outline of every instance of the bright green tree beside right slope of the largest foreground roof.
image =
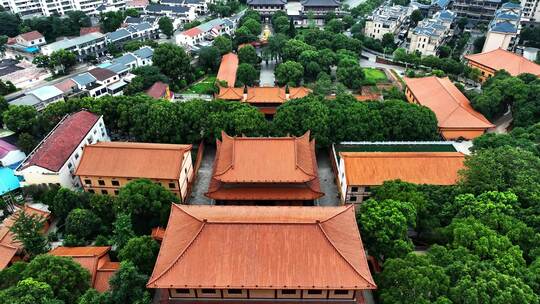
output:
[{"label": "bright green tree beside right slope of the largest foreground roof", "polygon": [[412,251],[413,244],[407,236],[407,230],[416,222],[412,203],[370,199],[360,206],[357,221],[371,255],[384,260]]}]

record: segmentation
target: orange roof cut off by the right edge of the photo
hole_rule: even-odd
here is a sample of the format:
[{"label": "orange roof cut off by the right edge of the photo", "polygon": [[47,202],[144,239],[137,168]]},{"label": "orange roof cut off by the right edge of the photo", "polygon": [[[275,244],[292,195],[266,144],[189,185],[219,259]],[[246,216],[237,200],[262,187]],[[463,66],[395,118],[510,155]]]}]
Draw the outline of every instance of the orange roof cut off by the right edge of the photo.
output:
[{"label": "orange roof cut off by the right edge of the photo", "polygon": [[500,48],[485,53],[466,55],[465,59],[474,61],[495,71],[506,70],[512,76],[522,73],[540,75],[540,65],[527,60],[525,57]]}]

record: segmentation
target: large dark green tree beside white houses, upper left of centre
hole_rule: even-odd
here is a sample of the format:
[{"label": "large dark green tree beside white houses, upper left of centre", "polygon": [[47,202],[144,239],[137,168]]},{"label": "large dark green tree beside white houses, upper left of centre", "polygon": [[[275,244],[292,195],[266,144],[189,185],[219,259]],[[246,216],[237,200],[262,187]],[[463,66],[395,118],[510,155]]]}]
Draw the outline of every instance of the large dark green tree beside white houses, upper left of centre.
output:
[{"label": "large dark green tree beside white houses, upper left of centre", "polygon": [[171,44],[162,43],[154,51],[152,57],[154,66],[178,84],[179,81],[187,80],[191,75],[190,58],[183,48]]}]

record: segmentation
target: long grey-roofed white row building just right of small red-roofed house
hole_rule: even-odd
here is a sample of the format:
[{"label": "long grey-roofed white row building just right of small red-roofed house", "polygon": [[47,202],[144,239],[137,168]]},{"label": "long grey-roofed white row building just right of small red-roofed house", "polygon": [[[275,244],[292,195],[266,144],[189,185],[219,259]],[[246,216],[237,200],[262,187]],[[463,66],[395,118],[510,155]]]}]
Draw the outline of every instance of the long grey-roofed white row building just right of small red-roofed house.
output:
[{"label": "long grey-roofed white row building just right of small red-roofed house", "polygon": [[106,36],[102,33],[94,32],[44,45],[41,47],[41,53],[50,56],[58,50],[72,51],[77,55],[77,59],[82,61],[88,56],[99,57],[105,55],[105,46]]}]

